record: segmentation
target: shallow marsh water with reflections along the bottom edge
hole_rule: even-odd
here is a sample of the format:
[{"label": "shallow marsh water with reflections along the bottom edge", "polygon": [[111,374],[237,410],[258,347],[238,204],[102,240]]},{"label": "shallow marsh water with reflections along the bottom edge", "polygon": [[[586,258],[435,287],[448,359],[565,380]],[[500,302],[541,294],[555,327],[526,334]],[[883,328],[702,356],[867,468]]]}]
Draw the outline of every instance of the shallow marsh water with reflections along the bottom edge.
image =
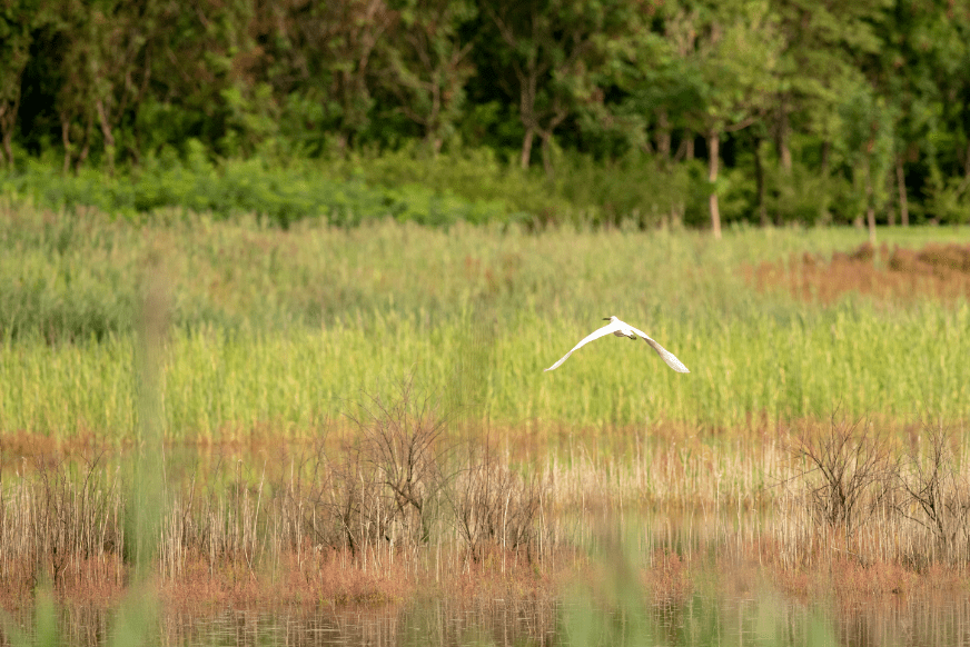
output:
[{"label": "shallow marsh water with reflections along the bottom edge", "polygon": [[[615,593],[615,591],[614,591]],[[73,607],[7,616],[0,644],[149,645],[970,645],[970,596],[891,597],[839,608],[770,590],[679,603],[583,595],[555,600],[425,600],[384,607],[226,608],[167,613],[123,628],[117,613]],[[41,611],[42,614],[43,611]],[[136,623],[137,625],[137,623]],[[126,636],[126,633],[135,635]],[[55,638],[51,640],[51,638]]]}]

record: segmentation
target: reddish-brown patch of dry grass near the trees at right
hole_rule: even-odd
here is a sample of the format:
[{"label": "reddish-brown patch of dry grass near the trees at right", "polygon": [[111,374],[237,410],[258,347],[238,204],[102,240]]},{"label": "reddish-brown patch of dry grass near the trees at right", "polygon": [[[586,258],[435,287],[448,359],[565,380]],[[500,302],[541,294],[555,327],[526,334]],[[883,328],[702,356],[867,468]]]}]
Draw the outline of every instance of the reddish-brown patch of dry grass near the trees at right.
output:
[{"label": "reddish-brown patch of dry grass near the trees at right", "polygon": [[[878,256],[878,259],[877,259]],[[742,267],[759,291],[784,290],[808,302],[831,305],[859,293],[878,301],[970,299],[970,245],[930,243],[920,250],[863,243],[851,252],[792,255],[786,261]]]}]

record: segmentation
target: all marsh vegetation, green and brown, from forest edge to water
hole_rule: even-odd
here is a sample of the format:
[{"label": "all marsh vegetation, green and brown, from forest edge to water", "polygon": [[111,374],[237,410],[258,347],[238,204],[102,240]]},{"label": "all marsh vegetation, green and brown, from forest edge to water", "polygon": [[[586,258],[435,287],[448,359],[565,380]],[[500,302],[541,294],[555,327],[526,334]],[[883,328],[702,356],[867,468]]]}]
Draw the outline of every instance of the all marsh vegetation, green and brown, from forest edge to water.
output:
[{"label": "all marsh vegetation, green and brown, from forest edge to water", "polygon": [[[501,598],[562,639],[672,613],[703,641],[732,590],[763,591],[755,624],[966,590],[962,230],[3,218],[0,584],[28,624],[46,590],[192,617]],[[693,372],[613,339],[542,371],[612,312]]]}]

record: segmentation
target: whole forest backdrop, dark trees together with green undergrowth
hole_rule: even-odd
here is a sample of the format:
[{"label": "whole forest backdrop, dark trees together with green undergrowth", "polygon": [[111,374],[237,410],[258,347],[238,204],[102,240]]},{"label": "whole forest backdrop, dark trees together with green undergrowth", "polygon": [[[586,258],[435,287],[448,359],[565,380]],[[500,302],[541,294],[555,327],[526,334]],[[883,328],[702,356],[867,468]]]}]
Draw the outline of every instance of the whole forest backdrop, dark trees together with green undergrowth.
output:
[{"label": "whole forest backdrop, dark trees together with green undergrowth", "polygon": [[967,0],[2,0],[0,189],[354,225],[970,221]]}]

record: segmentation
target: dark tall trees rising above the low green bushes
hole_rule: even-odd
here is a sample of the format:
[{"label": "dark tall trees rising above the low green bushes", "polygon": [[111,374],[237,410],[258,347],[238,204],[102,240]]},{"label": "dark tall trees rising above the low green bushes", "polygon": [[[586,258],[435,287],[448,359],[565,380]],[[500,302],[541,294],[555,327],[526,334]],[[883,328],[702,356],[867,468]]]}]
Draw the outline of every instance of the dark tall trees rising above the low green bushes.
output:
[{"label": "dark tall trees rising above the low green bushes", "polygon": [[760,223],[966,222],[970,0],[0,0],[4,165],[190,140],[693,163],[715,235],[732,191]]}]

